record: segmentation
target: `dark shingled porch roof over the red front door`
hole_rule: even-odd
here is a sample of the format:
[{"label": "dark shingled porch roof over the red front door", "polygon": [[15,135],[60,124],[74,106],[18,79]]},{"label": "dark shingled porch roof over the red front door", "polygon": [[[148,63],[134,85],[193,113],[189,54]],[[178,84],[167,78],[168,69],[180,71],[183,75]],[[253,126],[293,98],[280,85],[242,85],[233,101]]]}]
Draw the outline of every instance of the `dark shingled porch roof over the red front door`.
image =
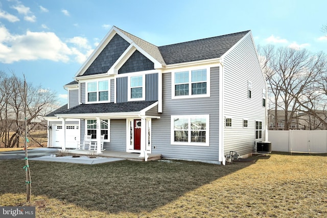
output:
[{"label": "dark shingled porch roof over the red front door", "polygon": [[88,113],[119,113],[137,112],[152,105],[156,101],[124,102],[124,103],[100,103],[100,104],[81,104],[68,110],[56,114],[88,114]]}]

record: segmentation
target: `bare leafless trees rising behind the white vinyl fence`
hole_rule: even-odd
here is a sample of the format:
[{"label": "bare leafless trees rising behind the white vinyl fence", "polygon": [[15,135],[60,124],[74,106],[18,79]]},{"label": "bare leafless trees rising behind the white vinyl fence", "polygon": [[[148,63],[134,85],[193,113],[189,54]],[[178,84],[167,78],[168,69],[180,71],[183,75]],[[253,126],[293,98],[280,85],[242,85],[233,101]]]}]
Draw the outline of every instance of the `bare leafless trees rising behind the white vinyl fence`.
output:
[{"label": "bare leafless trees rising behind the white vinyl fence", "polygon": [[[307,50],[294,50],[289,47],[275,49],[271,45],[259,47],[262,68],[266,74],[269,92],[274,96],[275,127],[277,127],[277,109],[285,111],[284,130],[288,130],[292,118],[299,111],[317,107],[314,96],[320,85],[325,66],[323,53],[313,54]],[[326,86],[327,90],[327,86]],[[320,98],[321,99],[321,98]],[[310,107],[309,107],[310,105]],[[322,122],[322,120],[320,120]]]}]

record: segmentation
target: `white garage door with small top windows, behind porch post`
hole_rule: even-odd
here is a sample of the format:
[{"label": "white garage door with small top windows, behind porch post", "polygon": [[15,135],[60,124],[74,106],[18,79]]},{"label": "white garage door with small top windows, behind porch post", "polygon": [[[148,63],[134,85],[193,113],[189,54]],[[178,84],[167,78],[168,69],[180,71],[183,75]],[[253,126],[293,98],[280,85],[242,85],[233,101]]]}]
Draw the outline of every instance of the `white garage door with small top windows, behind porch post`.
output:
[{"label": "white garage door with small top windows, behind porch post", "polygon": [[[63,129],[62,125],[53,125],[53,147],[62,147]],[[80,140],[80,130],[78,125],[66,125],[66,148],[77,148],[77,142]]]}]

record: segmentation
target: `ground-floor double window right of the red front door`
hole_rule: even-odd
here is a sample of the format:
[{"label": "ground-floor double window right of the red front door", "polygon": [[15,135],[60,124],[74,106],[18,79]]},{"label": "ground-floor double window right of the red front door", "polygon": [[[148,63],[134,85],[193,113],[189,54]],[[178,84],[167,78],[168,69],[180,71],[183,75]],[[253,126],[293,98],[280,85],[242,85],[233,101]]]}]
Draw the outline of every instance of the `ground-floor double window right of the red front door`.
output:
[{"label": "ground-floor double window right of the red front door", "polygon": [[171,116],[171,143],[209,145],[209,115]]}]

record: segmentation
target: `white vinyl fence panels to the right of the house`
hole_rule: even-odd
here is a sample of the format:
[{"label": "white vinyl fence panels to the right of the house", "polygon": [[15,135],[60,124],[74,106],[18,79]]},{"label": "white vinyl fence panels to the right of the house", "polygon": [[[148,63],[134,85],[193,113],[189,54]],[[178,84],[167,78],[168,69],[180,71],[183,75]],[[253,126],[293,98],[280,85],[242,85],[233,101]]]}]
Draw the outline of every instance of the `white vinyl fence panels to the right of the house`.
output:
[{"label": "white vinyl fence panels to the right of the house", "polygon": [[327,153],[327,130],[269,130],[275,152]]}]

